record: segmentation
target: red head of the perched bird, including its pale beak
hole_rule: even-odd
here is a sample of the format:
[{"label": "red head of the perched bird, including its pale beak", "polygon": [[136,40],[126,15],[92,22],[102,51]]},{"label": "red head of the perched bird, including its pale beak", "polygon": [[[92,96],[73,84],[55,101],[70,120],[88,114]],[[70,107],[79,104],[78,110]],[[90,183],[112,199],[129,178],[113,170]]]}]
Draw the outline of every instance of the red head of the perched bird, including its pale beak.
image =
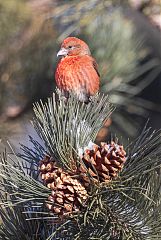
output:
[{"label": "red head of the perched bird, including its pale beak", "polygon": [[83,56],[91,55],[88,45],[76,37],[68,37],[64,39],[61,49],[57,56]]}]

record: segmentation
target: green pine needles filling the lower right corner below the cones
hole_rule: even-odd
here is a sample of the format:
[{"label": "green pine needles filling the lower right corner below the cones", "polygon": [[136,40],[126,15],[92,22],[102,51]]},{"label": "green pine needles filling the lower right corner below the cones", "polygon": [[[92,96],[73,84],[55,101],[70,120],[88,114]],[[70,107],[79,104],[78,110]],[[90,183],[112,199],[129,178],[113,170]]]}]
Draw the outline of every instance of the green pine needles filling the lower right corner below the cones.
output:
[{"label": "green pine needles filling the lower right corner below the cones", "polygon": [[[129,149],[129,162],[127,159],[120,179],[93,189],[86,210],[75,220],[71,219],[68,224],[70,239],[161,238],[160,141],[160,134],[150,134],[150,129],[145,127],[140,138],[133,143],[134,147]],[[140,149],[146,150],[144,154]],[[138,159],[134,161],[136,165],[131,156]],[[128,172],[133,172],[132,177]],[[57,229],[57,234],[60,232],[61,228]]]}]

